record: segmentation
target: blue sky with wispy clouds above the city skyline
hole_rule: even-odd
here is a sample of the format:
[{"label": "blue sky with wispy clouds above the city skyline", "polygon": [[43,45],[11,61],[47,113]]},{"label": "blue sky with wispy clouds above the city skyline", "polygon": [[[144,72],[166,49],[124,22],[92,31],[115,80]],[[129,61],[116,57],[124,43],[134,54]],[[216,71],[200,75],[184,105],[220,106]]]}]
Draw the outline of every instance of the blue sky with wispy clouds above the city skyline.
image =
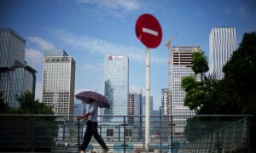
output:
[{"label": "blue sky with wispy clouds above the city skyline", "polygon": [[12,28],[26,40],[25,60],[37,72],[36,99],[42,98],[45,49],[64,49],[76,61],[75,94],[104,94],[104,58],[129,57],[129,88],[145,95],[146,47],[135,34],[137,19],[152,14],[163,37],[150,49],[150,95],[154,110],[161,88],[168,88],[166,42],[200,46],[209,54],[212,27],[236,27],[237,46],[245,32],[256,31],[255,0],[0,0],[0,29]]}]

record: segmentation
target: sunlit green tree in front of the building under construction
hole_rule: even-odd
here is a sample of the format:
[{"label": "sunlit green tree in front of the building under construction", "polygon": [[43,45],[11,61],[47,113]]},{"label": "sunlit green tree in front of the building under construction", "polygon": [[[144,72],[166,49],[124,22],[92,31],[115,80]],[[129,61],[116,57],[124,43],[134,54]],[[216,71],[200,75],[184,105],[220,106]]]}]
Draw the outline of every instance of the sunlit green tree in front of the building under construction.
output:
[{"label": "sunlit green tree in front of the building under construction", "polygon": [[[196,114],[214,113],[212,111],[212,99],[216,96],[212,90],[217,86],[218,81],[212,74],[206,75],[209,70],[207,56],[203,51],[195,52],[192,59],[192,70],[201,75],[201,80],[197,81],[195,76],[183,77],[181,87],[185,90],[184,105],[194,110]],[[207,113],[208,114],[208,113]]]}]

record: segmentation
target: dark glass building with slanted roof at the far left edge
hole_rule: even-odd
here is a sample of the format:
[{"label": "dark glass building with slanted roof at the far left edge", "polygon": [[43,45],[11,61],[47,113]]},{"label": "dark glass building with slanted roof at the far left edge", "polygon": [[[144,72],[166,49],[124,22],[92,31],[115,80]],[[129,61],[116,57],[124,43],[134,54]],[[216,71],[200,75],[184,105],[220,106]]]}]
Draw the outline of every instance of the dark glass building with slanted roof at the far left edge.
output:
[{"label": "dark glass building with slanted roof at the far left edge", "polygon": [[25,61],[26,41],[12,29],[0,30],[0,91],[4,101],[18,108],[15,99],[26,91],[35,94],[36,72]]}]

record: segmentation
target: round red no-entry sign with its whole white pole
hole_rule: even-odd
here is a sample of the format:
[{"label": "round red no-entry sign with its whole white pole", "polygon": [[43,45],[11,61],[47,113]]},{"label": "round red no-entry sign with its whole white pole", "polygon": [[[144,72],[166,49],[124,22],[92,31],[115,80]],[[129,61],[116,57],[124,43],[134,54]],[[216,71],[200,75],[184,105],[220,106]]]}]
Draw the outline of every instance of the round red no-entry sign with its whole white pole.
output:
[{"label": "round red no-entry sign with its whole white pole", "polygon": [[146,88],[145,88],[145,144],[146,152],[149,150],[150,134],[150,49],[160,45],[162,29],[160,23],[152,14],[142,14],[136,22],[135,32],[137,38],[146,48]]}]

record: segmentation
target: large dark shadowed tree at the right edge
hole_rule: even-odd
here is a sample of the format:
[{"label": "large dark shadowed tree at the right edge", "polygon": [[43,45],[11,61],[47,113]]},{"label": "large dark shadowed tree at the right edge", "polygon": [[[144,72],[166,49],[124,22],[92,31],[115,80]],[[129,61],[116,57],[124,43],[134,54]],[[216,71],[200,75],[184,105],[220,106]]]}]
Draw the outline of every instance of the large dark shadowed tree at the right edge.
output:
[{"label": "large dark shadowed tree at the right edge", "polygon": [[241,114],[256,115],[256,33],[245,33],[242,42],[224,65],[224,97],[238,105]]}]

